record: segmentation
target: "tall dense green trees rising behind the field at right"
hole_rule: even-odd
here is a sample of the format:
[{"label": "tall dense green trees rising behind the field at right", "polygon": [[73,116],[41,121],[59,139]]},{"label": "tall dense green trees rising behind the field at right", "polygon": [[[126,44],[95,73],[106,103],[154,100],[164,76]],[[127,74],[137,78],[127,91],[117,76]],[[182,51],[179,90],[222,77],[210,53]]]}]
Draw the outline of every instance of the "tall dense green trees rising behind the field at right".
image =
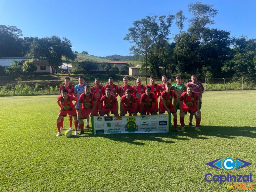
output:
[{"label": "tall dense green trees rising behind the field at right", "polygon": [[[230,37],[228,31],[209,28],[218,14],[213,5],[190,3],[188,11],[193,15],[191,19],[180,10],[175,15],[147,16],[128,28],[124,40],[132,43],[133,54],[147,53],[151,74],[161,78],[159,66],[162,66],[164,74],[172,78],[180,74],[207,78],[255,76],[256,39]],[[174,21],[178,34],[171,34]],[[186,31],[185,22],[189,24]],[[143,67],[145,62],[141,70]]]}]

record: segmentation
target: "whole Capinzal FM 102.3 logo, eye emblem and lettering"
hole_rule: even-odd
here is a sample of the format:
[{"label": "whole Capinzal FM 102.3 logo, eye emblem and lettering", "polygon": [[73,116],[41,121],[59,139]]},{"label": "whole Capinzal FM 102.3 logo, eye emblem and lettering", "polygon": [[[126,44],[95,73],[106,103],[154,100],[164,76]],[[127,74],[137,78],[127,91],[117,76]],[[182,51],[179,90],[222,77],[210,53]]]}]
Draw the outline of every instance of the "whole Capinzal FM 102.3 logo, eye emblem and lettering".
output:
[{"label": "whole Capinzal FM 102.3 logo, eye emblem and lettering", "polygon": [[[238,169],[244,168],[246,166],[251,165],[252,163],[249,163],[247,161],[244,161],[242,159],[238,158],[220,158],[216,159],[214,161],[211,161],[209,163],[206,163],[206,165],[209,165],[211,167],[214,167],[216,169],[220,169],[223,171],[236,171]],[[234,185],[227,185],[228,189],[240,189],[242,184],[244,189],[252,189],[252,173],[246,174],[246,175],[232,175],[230,173],[227,173],[226,175],[213,175],[212,173],[206,173],[204,176],[205,181],[207,182],[219,182],[222,184],[223,182],[238,182],[234,183]],[[244,182],[250,182],[250,183],[244,183]],[[226,186],[225,186],[226,187]]]}]

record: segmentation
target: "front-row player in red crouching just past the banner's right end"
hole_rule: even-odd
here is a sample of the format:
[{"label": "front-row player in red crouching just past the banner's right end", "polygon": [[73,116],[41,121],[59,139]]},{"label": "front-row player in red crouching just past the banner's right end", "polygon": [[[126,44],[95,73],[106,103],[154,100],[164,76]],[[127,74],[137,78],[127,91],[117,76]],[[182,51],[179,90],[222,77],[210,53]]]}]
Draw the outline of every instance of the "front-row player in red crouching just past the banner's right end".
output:
[{"label": "front-row player in red crouching just past the banner's right end", "polygon": [[[174,130],[180,132],[180,130],[177,128],[177,114],[174,107],[178,99],[177,94],[171,90],[171,86],[172,85],[169,82],[165,83],[165,91],[161,93],[162,102],[159,104],[159,114],[164,114],[165,111],[167,111],[167,113],[172,113]],[[172,105],[173,98],[174,102]]]}]

